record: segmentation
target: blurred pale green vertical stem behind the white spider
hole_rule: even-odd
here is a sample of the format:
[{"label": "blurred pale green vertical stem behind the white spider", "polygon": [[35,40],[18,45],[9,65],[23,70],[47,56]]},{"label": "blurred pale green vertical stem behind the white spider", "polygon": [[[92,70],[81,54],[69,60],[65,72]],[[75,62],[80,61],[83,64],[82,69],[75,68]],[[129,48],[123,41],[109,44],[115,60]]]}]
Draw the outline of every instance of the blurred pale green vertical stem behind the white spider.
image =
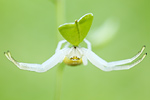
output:
[{"label": "blurred pale green vertical stem behind the white spider", "polygon": [[[65,21],[65,0],[55,0],[55,7],[56,7],[56,27],[58,28],[59,25],[63,24]],[[56,34],[57,34],[56,35],[57,42],[59,42],[60,40],[62,40],[62,36],[59,34],[58,30]],[[54,100],[61,99],[61,89],[62,89],[64,68],[65,68],[64,63],[61,63],[57,66]]]}]

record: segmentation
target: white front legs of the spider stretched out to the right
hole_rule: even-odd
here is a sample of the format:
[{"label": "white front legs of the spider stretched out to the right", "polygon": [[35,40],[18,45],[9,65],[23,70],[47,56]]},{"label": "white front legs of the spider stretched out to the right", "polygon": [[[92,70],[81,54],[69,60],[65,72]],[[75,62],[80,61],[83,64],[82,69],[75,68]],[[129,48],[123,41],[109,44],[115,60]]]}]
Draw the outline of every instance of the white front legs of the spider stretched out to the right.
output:
[{"label": "white front legs of the spider stretched out to the right", "polygon": [[145,53],[143,55],[143,57],[140,60],[138,60],[137,62],[135,62],[133,64],[130,64],[130,65],[123,65],[123,64],[130,63],[133,60],[135,60],[137,57],[139,57],[144,49],[145,49],[145,46],[142,48],[142,50],[136,56],[134,56],[131,59],[126,59],[126,60],[121,60],[121,61],[114,61],[114,62],[107,62],[107,61],[103,60],[102,58],[100,58],[99,56],[97,56],[91,50],[88,50],[88,49],[85,49],[85,48],[83,48],[83,53],[84,53],[84,55],[86,55],[87,59],[93,65],[98,67],[99,69],[101,69],[103,71],[112,71],[112,70],[129,69],[129,68],[132,68],[133,66],[137,65],[138,63],[140,63],[146,57],[147,53]]}]

